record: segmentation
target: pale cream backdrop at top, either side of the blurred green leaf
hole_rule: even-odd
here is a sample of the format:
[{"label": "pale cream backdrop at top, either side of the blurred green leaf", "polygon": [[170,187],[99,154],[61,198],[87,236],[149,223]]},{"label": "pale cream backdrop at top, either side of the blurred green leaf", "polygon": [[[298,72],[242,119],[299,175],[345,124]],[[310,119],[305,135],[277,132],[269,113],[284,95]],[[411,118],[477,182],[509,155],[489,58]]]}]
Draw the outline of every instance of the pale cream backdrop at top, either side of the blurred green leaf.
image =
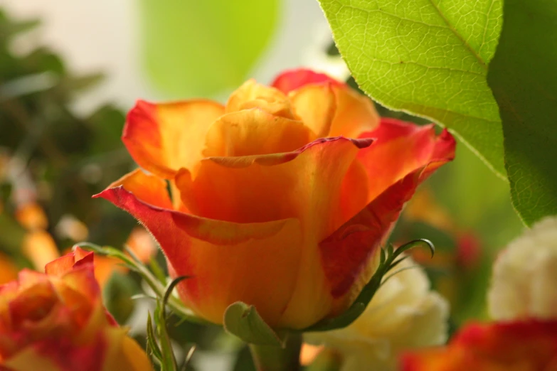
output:
[{"label": "pale cream backdrop at top, either side of the blurred green leaf", "polygon": [[[76,107],[84,112],[101,102],[115,102],[126,110],[138,98],[164,99],[149,86],[141,68],[134,3],[134,0],[0,0],[0,5],[12,16],[41,18],[43,26],[33,34],[33,42],[60,53],[70,70],[105,72],[105,81],[78,100]],[[326,47],[328,35],[327,21],[317,0],[285,0],[275,36],[250,77],[270,82],[285,68],[319,65],[314,52],[319,49],[317,45]],[[226,93],[216,98],[223,99]]]}]

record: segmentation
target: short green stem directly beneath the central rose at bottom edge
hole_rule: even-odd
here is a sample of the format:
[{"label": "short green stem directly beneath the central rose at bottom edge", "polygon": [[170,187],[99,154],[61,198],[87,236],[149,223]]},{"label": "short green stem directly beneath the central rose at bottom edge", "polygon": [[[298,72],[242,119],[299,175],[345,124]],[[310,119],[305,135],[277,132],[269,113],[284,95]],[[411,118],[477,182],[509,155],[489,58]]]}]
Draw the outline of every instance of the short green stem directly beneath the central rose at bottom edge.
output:
[{"label": "short green stem directly beneath the central rose at bottom edge", "polygon": [[253,362],[258,371],[298,371],[302,334],[289,333],[284,348],[272,345],[250,344]]}]

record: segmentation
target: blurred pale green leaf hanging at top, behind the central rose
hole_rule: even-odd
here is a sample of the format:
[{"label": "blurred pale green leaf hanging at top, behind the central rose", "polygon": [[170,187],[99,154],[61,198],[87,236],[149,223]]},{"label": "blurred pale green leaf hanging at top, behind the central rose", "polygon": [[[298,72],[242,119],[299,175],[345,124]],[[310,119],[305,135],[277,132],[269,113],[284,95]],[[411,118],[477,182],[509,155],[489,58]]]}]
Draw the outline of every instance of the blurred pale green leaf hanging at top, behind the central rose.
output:
[{"label": "blurred pale green leaf hanging at top, behind the central rose", "polygon": [[144,63],[169,95],[238,87],[277,26],[279,0],[141,0]]}]

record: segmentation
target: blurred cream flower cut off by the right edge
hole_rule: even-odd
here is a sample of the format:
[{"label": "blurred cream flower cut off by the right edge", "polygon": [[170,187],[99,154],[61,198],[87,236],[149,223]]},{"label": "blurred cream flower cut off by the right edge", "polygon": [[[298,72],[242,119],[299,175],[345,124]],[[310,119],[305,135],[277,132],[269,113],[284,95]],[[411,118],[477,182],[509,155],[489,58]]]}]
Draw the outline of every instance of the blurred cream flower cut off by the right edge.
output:
[{"label": "blurred cream flower cut off by the right edge", "polygon": [[499,254],[487,301],[496,320],[557,318],[557,217],[537,222]]}]

